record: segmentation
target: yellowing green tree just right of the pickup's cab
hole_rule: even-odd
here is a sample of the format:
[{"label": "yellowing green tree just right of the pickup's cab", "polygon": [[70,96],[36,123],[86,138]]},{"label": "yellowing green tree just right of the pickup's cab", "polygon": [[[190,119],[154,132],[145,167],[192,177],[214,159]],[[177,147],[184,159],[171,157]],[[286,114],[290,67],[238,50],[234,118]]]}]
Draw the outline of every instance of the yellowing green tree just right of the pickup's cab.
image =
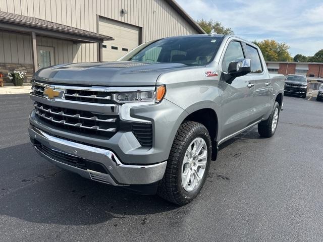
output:
[{"label": "yellowing green tree just right of the pickup's cab", "polygon": [[260,42],[254,40],[267,62],[292,62],[293,58],[288,52],[289,46],[286,43],[279,43],[274,39],[265,39]]}]

